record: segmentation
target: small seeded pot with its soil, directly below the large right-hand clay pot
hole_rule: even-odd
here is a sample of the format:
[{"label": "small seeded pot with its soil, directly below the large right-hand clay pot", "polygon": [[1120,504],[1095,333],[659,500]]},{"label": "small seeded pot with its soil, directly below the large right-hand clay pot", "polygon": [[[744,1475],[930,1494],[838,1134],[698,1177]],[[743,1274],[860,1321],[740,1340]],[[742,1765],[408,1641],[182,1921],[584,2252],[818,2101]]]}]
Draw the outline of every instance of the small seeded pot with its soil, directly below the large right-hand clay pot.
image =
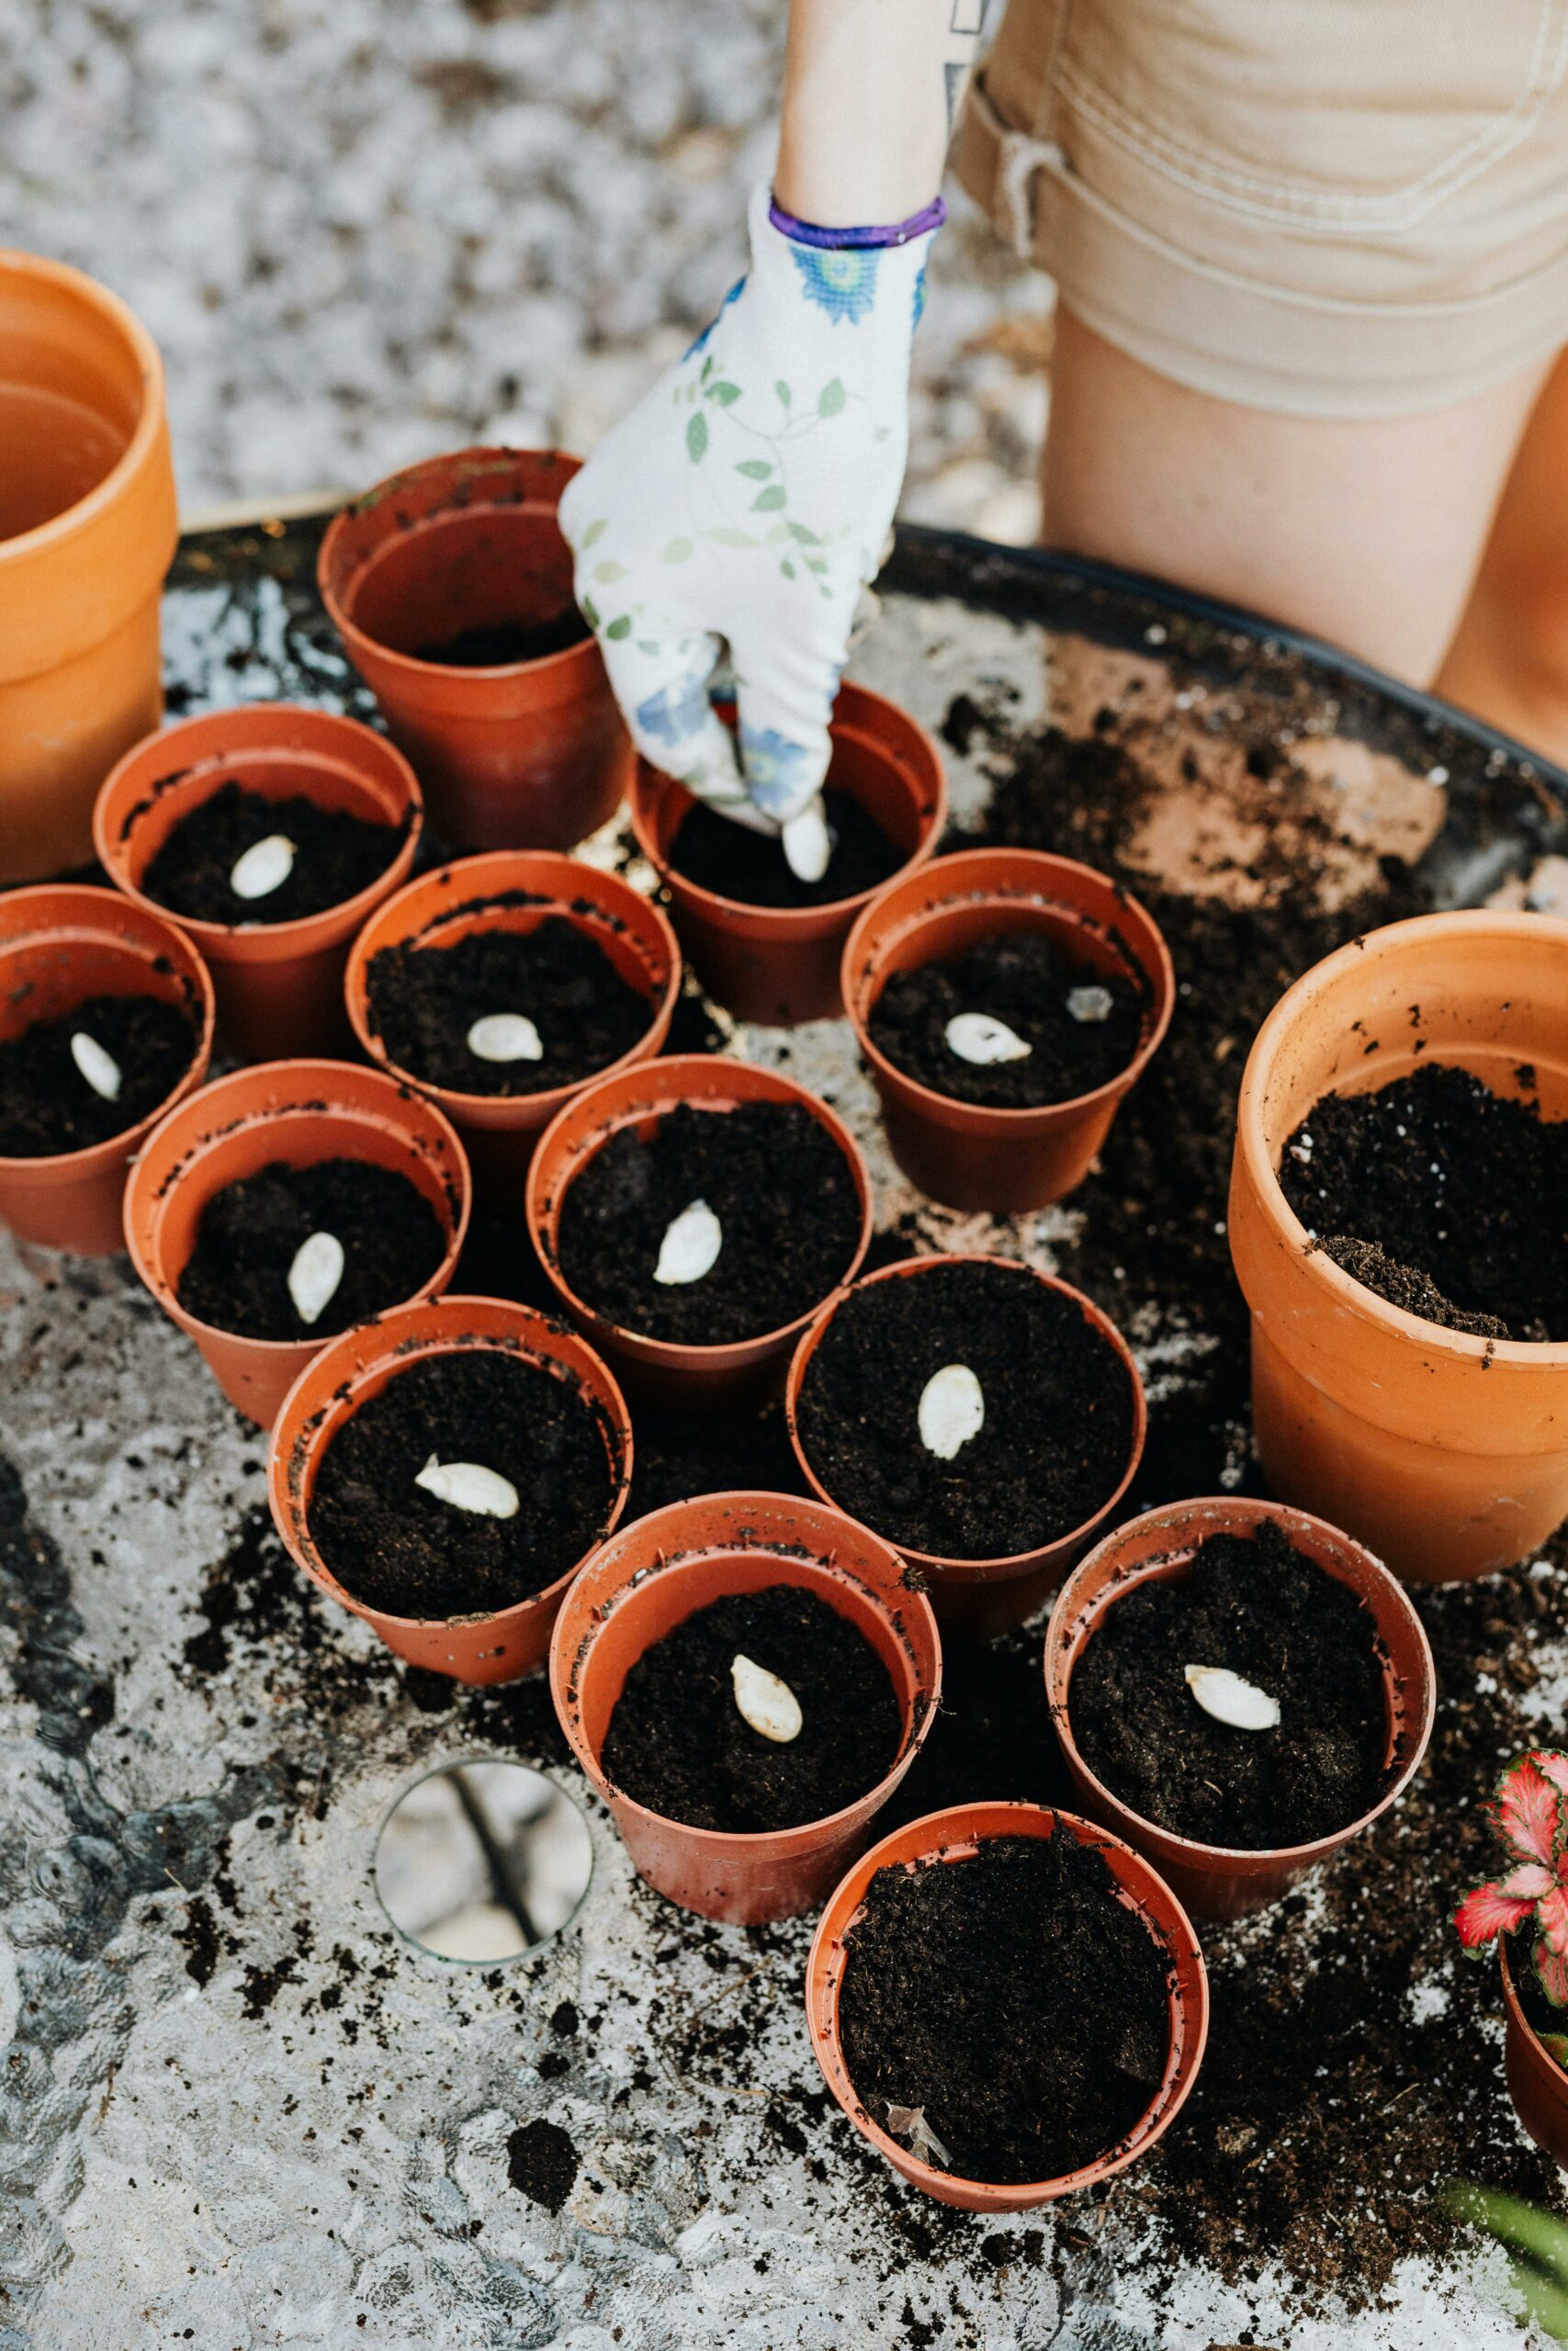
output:
[{"label": "small seeded pot with its soil, directly below the large right-hand clay pot", "polygon": [[1084,1808],[1199,1918],[1241,1918],[1410,1784],[1436,1683],[1380,1561],[1279,1502],[1175,1502],[1067,1578],[1046,1695]]}]

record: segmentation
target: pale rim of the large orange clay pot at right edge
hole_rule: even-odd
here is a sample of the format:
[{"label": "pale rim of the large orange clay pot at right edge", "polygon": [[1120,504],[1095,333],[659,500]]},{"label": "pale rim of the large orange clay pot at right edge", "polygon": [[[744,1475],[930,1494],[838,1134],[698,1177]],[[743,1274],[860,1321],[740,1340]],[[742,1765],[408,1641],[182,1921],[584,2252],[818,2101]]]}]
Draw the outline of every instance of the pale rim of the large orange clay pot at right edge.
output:
[{"label": "pale rim of the large orange clay pot at right edge", "polygon": [[[1272,1009],[1258,1034],[1253,1037],[1253,1049],[1246,1056],[1246,1067],[1241,1072],[1241,1093],[1237,1098],[1237,1152],[1246,1166],[1246,1173],[1265,1204],[1269,1220],[1276,1225],[1286,1246],[1305,1262],[1309,1279],[1319,1281],[1338,1307],[1359,1314],[1363,1321],[1382,1324],[1382,1328],[1408,1345],[1425,1347],[1429,1354],[1455,1357],[1458,1361],[1490,1361],[1493,1366],[1521,1366],[1533,1371],[1568,1371],[1568,1340],[1521,1340],[1521,1338],[1481,1338],[1474,1331],[1446,1331],[1441,1324],[1425,1321],[1420,1314],[1408,1314],[1406,1307],[1392,1305],[1375,1291],[1368,1291],[1361,1281],[1335,1265],[1321,1244],[1312,1239],[1295,1208],[1284,1194],[1279,1183],[1279,1171],[1272,1166],[1272,1154],[1267,1147],[1262,1128],[1262,1093],[1279,1056],[1281,1039],[1295,1025],[1300,1011],[1316,997],[1326,985],[1340,978],[1352,966],[1363,966],[1368,950],[1378,952],[1380,940],[1389,945],[1403,945],[1418,933],[1427,938],[1441,936],[1443,931],[1497,931],[1514,940],[1542,940],[1556,936],[1559,945],[1568,947],[1568,919],[1559,915],[1523,915],[1509,910],[1490,907],[1453,907],[1441,915],[1408,915],[1403,922],[1382,924],[1378,931],[1366,931],[1359,938],[1347,940],[1326,955],[1309,971],[1302,971],[1293,980],[1279,1004]],[[1331,1089],[1333,1091],[1333,1089]],[[1324,1096],[1319,1096],[1324,1100]]]}]

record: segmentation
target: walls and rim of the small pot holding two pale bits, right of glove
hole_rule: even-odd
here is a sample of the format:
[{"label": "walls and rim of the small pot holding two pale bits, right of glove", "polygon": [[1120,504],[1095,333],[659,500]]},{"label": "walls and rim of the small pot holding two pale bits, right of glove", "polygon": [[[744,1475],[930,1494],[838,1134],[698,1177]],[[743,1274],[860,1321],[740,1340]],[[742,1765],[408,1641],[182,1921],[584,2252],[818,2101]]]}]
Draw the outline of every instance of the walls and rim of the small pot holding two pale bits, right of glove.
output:
[{"label": "walls and rim of the small pot holding two pale bits, right of glove", "polygon": [[[1145,992],[1143,1041],[1110,1084],[1039,1110],[954,1103],[898,1070],[867,1020],[896,971],[954,962],[997,931],[1044,931],[1074,962]],[[1072,858],[966,849],[889,882],[844,945],[844,1011],[882,1098],[893,1159],[950,1208],[1023,1215],[1084,1180],[1124,1096],[1171,1025],[1171,950],[1135,898]]]}]

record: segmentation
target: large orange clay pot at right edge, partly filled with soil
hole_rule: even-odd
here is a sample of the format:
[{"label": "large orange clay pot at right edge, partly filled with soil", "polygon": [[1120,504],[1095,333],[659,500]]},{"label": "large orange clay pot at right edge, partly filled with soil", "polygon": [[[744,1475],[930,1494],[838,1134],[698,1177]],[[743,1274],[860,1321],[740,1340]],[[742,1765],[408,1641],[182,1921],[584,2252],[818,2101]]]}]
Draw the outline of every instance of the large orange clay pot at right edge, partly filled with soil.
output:
[{"label": "large orange clay pot at right edge, partly filled with soil", "polygon": [[1324,1093],[1422,1060],[1495,1093],[1530,1065],[1568,1117],[1568,922],[1422,915],[1316,964],[1258,1030],[1241,1079],[1229,1248],[1253,1310],[1253,1425],[1274,1493],[1410,1582],[1526,1559],[1568,1516],[1568,1345],[1418,1321],[1312,1248],[1279,1154]]}]

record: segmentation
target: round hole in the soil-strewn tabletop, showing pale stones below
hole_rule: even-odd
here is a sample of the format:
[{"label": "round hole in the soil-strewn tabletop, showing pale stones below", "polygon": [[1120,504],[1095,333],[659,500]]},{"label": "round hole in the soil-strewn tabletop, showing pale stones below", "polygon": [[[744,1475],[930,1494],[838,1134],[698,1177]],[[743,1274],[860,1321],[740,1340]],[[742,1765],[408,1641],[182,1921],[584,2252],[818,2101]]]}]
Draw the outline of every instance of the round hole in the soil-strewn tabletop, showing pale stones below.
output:
[{"label": "round hole in the soil-strewn tabletop, showing pale stones below", "polygon": [[555,1780],[470,1759],[404,1789],[381,1822],[374,1876],[400,1935],[435,1958],[491,1968],[576,1916],[592,1846]]}]

